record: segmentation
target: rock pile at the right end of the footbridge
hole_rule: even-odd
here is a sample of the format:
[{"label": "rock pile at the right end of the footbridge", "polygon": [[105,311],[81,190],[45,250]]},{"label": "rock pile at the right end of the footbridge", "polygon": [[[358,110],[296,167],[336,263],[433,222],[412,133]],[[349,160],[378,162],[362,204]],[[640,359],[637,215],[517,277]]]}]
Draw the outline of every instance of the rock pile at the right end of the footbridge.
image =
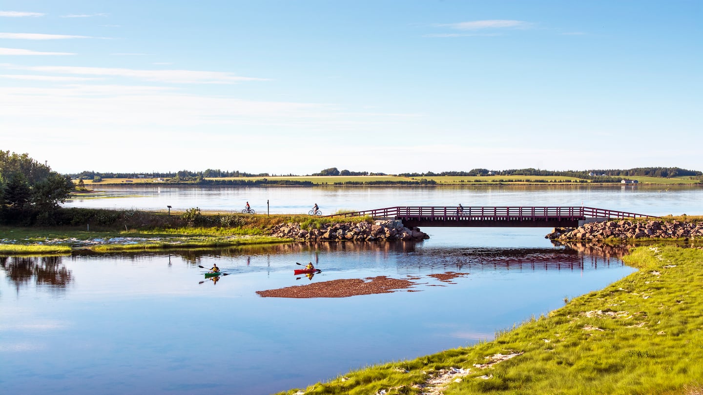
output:
[{"label": "rock pile at the right end of the footbridge", "polygon": [[605,239],[688,239],[703,238],[703,223],[688,221],[604,221],[591,222],[578,228],[554,228],[545,238],[551,240]]}]

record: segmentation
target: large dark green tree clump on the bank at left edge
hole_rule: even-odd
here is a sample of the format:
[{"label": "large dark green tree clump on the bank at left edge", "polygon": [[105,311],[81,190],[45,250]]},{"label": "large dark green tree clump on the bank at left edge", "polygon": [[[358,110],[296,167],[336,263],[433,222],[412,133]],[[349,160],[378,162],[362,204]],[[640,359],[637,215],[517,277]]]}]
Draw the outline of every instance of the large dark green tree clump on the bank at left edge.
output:
[{"label": "large dark green tree clump on the bank at left edge", "polygon": [[29,155],[0,150],[0,223],[53,224],[59,203],[75,189],[70,177]]}]

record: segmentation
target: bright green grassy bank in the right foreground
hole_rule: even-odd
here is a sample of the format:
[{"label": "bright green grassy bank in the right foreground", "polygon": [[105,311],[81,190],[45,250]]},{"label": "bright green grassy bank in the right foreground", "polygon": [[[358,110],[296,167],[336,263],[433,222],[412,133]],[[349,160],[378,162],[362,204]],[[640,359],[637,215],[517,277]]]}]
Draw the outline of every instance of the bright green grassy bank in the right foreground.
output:
[{"label": "bright green grassy bank in the right foreground", "polygon": [[625,259],[640,270],[492,342],[356,370],[305,394],[420,394],[449,368],[467,374],[446,380],[447,395],[703,393],[703,250],[638,247]]}]

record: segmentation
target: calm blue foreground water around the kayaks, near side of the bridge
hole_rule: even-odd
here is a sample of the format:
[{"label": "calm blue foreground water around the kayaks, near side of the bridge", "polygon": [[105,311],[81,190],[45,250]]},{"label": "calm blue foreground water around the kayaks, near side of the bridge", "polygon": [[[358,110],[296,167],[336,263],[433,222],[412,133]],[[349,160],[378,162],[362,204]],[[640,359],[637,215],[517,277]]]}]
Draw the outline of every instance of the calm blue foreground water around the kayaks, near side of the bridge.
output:
[{"label": "calm blue foreground water around the kayaks, near side of the bridge", "polygon": [[[633,270],[616,258],[609,263],[552,247],[538,236],[542,245],[521,248],[320,242],[6,258],[0,261],[7,273],[0,276],[0,294],[20,286],[23,292],[0,298],[0,387],[7,394],[109,389],[186,395],[197,388],[213,395],[271,394],[368,363],[491,339],[496,329],[556,309],[564,297],[601,289]],[[296,261],[313,261],[322,272],[295,280]],[[204,278],[213,264],[228,274],[217,283]],[[27,286],[32,281],[37,286]],[[387,284],[400,291],[377,292]],[[404,284],[412,286],[399,287]],[[295,298],[257,294],[292,285],[299,285],[289,289]],[[304,294],[327,286],[326,297]],[[57,288],[66,291],[56,297],[51,290]],[[344,291],[354,296],[342,297]],[[315,347],[300,342],[301,334],[315,339]],[[207,339],[220,339],[217,352],[207,351]],[[208,376],[207,367],[223,365],[227,375]],[[211,387],[202,387],[203,377],[210,377],[205,384]]]}]

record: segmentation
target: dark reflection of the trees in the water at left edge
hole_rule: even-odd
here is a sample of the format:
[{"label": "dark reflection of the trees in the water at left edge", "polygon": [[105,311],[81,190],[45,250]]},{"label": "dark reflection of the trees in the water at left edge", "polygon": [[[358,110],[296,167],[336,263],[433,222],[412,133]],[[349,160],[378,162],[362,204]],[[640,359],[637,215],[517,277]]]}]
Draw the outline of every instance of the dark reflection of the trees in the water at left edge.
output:
[{"label": "dark reflection of the trees in the water at left edge", "polygon": [[72,272],[62,263],[63,257],[0,257],[0,267],[20,290],[32,280],[37,285],[49,285],[61,289],[73,280]]}]

